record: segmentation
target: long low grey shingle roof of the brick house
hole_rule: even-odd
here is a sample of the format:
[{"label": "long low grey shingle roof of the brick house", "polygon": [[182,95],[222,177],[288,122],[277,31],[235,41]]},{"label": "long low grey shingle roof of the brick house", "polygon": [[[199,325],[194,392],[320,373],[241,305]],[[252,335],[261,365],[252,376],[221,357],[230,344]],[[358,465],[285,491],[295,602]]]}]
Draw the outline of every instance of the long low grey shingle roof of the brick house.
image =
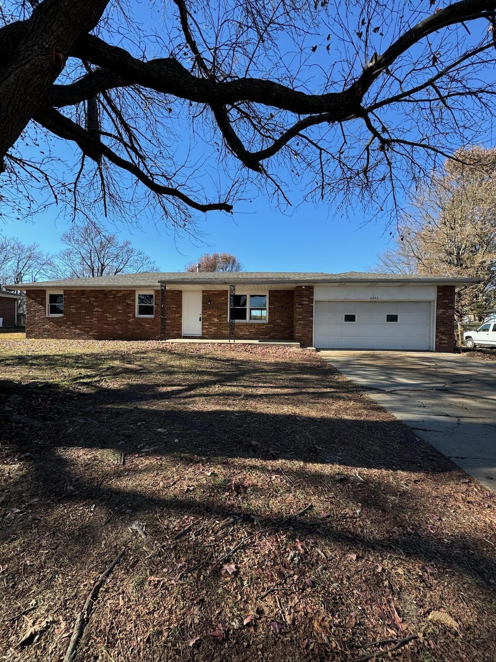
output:
[{"label": "long low grey shingle roof of the brick house", "polygon": [[201,283],[217,283],[228,285],[232,283],[309,283],[325,285],[326,283],[431,283],[463,285],[479,282],[476,278],[452,278],[450,276],[418,276],[395,273],[368,273],[362,271],[346,271],[345,273],[323,273],[310,271],[237,271],[226,273],[222,271],[145,271],[144,273],[119,273],[116,276],[100,276],[95,278],[67,278],[58,281],[38,281],[36,283],[13,283],[6,285],[9,289],[87,289],[114,287],[131,289],[140,287],[158,288],[160,283],[167,285],[191,285]]}]

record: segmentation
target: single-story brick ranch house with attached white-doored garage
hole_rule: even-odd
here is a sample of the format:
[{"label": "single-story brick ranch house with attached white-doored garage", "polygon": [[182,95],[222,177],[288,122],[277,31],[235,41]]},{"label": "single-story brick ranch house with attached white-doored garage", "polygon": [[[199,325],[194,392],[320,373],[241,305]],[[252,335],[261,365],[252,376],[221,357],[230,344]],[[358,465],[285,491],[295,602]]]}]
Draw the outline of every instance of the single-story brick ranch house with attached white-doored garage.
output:
[{"label": "single-story brick ranch house with attached white-doored garage", "polygon": [[452,352],[455,288],[388,273],[133,273],[11,285],[28,338],[292,340],[335,349]]}]

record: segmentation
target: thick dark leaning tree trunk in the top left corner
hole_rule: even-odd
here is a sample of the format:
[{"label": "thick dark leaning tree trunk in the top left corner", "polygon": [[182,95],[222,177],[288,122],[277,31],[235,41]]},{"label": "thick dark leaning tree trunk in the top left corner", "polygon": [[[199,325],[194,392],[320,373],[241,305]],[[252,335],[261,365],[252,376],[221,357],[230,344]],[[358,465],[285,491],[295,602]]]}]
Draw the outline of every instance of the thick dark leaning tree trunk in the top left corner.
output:
[{"label": "thick dark leaning tree trunk in the top left corner", "polygon": [[[0,70],[0,168],[83,34],[108,0],[44,0],[32,13],[10,62]],[[3,168],[2,168],[3,169]]]}]

